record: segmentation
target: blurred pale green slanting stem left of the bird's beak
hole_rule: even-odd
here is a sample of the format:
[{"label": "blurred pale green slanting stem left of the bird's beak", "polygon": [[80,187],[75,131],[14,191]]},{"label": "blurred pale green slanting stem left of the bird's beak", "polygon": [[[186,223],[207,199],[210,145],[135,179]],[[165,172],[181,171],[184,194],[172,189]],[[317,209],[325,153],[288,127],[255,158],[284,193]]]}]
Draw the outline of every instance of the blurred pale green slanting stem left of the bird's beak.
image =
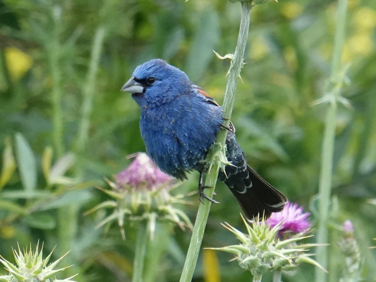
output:
[{"label": "blurred pale green slanting stem left of the bird's beak", "polygon": [[90,115],[92,109],[94,89],[96,85],[96,74],[98,71],[99,58],[102,50],[104,37],[105,29],[103,27],[99,27],[94,36],[89,71],[86,76],[85,86],[83,87],[82,115],[77,139],[78,153],[82,153],[89,136]]}]

